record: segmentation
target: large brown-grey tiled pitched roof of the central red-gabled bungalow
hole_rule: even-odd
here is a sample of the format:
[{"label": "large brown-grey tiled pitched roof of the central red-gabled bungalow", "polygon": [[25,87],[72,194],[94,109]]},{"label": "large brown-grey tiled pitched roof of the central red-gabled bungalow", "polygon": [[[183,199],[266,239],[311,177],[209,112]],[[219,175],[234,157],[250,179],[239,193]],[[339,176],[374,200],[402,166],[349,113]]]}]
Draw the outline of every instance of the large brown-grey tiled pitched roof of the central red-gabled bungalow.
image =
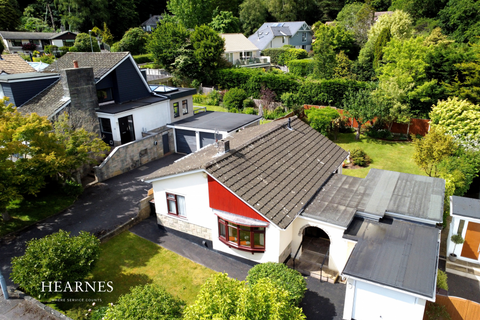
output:
[{"label": "large brown-grey tiled pitched roof of the central red-gabled bungalow", "polygon": [[342,164],[347,152],[297,118],[247,128],[231,151],[210,145],[145,180],[205,169],[272,223],[284,229]]}]

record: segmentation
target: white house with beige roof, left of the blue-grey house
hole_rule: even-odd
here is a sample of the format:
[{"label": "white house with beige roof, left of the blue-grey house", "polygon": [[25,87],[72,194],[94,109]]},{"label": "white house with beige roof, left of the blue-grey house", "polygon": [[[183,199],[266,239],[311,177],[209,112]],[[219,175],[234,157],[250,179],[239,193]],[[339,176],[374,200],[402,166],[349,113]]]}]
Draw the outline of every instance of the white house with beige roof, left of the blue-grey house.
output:
[{"label": "white house with beige roof, left of the blue-grey house", "polygon": [[225,40],[225,59],[238,67],[260,68],[270,66],[270,57],[260,55],[260,50],[242,33],[222,33]]}]

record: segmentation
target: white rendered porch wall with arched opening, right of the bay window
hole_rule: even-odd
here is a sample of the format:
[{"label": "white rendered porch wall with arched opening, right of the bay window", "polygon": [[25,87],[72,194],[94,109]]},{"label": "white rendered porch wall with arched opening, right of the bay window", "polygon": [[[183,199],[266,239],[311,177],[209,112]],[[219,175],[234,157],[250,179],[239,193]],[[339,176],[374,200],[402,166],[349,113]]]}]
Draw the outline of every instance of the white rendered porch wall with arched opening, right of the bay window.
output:
[{"label": "white rendered porch wall with arched opening, right of the bay window", "polygon": [[[302,229],[306,226],[310,227],[317,227],[325,231],[325,233],[330,238],[330,253],[329,253],[329,261],[328,261],[328,268],[330,270],[337,271],[339,273],[342,272],[345,264],[347,263],[348,256],[351,253],[351,248],[349,247],[350,241],[343,239],[343,233],[345,232],[344,228],[340,228],[338,226],[334,226],[331,224],[323,223],[320,221],[315,221],[313,219],[309,219],[306,217],[299,216],[293,222],[293,242],[292,242],[292,252],[295,252],[300,245],[303,232]],[[297,258],[301,256],[301,250]]]}]

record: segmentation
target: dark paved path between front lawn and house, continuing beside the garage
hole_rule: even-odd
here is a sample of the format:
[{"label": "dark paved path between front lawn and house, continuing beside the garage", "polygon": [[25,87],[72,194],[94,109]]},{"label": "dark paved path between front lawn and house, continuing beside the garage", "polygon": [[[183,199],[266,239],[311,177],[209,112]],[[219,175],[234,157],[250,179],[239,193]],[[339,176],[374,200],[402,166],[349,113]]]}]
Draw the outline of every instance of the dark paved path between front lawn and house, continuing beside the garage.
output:
[{"label": "dark paved path between front lawn and house, continuing beside the garage", "polygon": [[[134,234],[159,244],[165,249],[218,272],[226,272],[232,278],[245,280],[253,263],[235,260],[221,253],[204,248],[157,227],[154,217],[144,220],[130,229]],[[301,306],[311,320],[340,320],[343,314],[345,285],[320,282],[307,277],[308,291]]]}]

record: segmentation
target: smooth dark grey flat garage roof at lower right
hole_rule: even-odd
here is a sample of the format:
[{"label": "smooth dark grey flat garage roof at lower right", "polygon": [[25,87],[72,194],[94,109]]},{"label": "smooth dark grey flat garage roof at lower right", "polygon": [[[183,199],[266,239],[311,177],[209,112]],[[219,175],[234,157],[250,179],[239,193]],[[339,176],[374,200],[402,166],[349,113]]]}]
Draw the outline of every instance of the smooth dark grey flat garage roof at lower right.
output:
[{"label": "smooth dark grey flat garage roof at lower right", "polygon": [[343,274],[434,299],[440,229],[384,220],[352,221],[344,237],[358,242]]}]

